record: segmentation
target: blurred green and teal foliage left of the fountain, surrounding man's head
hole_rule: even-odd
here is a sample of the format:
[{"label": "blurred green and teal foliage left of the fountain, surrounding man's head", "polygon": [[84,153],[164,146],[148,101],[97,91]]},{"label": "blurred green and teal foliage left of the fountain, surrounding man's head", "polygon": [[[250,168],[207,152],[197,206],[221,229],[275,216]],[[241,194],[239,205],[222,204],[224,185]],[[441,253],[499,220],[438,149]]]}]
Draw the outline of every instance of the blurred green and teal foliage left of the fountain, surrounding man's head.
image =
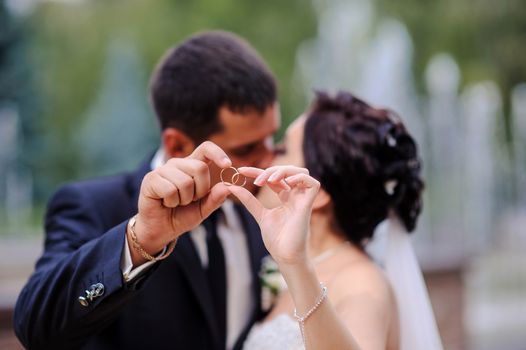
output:
[{"label": "blurred green and teal foliage left of the fountain, surrounding man's head", "polygon": [[[34,171],[37,200],[66,180],[135,166],[137,154],[146,156],[157,146],[147,99],[150,73],[167,48],[196,31],[225,29],[245,37],[278,77],[284,115],[304,107],[304,101],[288,97],[295,50],[316,30],[313,9],[304,1],[49,1],[33,6],[23,18],[2,10],[0,101],[17,105],[23,138],[19,157]],[[90,124],[90,118],[97,122]],[[125,137],[101,137],[104,145],[90,145],[93,140],[83,135],[101,129],[105,136],[118,132]],[[130,156],[93,159],[115,146]],[[90,147],[97,150],[86,150]]]}]

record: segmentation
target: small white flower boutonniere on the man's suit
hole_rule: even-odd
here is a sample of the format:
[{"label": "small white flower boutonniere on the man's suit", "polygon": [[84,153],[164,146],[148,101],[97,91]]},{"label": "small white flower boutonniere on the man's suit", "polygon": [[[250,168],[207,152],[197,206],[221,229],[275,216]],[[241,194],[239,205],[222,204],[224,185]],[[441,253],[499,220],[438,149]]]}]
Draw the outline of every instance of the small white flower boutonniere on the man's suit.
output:
[{"label": "small white flower boutonniere on the man's suit", "polygon": [[261,281],[261,308],[263,311],[268,311],[276,303],[281,291],[287,288],[278,264],[270,255],[261,260],[259,279]]}]

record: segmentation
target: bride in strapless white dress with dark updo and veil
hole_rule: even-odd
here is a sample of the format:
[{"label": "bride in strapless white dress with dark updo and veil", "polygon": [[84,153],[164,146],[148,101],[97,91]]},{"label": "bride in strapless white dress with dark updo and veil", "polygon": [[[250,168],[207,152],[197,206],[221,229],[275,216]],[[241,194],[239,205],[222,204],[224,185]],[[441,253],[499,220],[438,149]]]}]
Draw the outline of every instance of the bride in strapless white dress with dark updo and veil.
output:
[{"label": "bride in strapless white dress with dark updo and veil", "polygon": [[[244,348],[440,349],[407,234],[398,237],[407,244],[397,246],[405,255],[386,261],[390,276],[365,250],[381,222],[391,217],[412,231],[420,213],[417,147],[400,119],[349,93],[318,93],[288,128],[281,153],[268,169],[239,169],[273,190],[275,203],[229,187],[259,223],[286,282]],[[396,282],[407,265],[396,270],[389,260],[413,262],[414,285],[405,289],[411,295]],[[400,302],[413,297],[420,310]]]}]

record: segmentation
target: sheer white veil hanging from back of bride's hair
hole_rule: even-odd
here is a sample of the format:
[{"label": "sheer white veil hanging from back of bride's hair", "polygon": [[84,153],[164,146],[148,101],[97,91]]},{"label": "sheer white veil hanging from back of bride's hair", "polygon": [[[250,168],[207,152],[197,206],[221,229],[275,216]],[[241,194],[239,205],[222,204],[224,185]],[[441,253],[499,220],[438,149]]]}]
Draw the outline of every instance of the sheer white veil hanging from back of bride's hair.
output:
[{"label": "sheer white veil hanging from back of bride's hair", "polygon": [[411,238],[396,215],[381,223],[366,247],[391,282],[400,318],[400,350],[443,350]]}]

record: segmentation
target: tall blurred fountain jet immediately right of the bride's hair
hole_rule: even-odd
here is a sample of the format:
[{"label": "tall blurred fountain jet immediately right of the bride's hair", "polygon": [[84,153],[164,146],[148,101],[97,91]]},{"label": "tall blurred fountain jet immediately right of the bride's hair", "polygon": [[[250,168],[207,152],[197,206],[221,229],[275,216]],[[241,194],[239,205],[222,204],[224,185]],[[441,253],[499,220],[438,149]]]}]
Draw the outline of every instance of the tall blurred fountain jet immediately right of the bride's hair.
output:
[{"label": "tall blurred fountain jet immediately right of the bride's hair", "polygon": [[[424,163],[428,211],[435,254],[440,260],[459,264],[464,247],[459,241],[463,233],[463,161],[464,134],[459,112],[458,89],[460,70],[453,58],[445,53],[433,56],[425,71],[428,92],[426,115],[427,152]],[[461,241],[463,242],[463,240]],[[436,246],[438,245],[438,247]],[[424,249],[424,248],[422,248]],[[424,254],[424,255],[427,255]]]}]

